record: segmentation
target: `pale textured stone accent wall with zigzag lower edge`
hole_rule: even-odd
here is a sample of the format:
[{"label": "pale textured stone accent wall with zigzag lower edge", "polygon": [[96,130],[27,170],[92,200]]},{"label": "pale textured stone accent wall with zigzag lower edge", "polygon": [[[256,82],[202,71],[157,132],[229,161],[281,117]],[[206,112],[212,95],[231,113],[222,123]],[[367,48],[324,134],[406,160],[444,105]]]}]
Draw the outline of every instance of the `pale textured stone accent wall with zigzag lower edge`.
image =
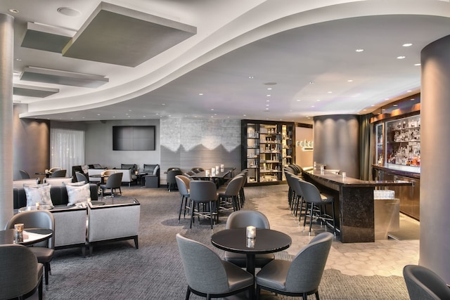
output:
[{"label": "pale textured stone accent wall with zigzag lower edge", "polygon": [[[240,120],[162,119],[160,126],[162,171],[217,164],[240,169]],[[161,176],[164,184],[165,174]]]}]

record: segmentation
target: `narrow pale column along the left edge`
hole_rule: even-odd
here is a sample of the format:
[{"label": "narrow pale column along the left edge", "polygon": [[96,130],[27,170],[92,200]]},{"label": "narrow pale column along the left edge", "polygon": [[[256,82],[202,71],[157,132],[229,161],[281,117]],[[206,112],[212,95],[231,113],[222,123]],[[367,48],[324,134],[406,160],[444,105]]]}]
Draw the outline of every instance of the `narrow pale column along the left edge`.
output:
[{"label": "narrow pale column along the left edge", "polygon": [[13,26],[0,14],[0,228],[13,216]]}]

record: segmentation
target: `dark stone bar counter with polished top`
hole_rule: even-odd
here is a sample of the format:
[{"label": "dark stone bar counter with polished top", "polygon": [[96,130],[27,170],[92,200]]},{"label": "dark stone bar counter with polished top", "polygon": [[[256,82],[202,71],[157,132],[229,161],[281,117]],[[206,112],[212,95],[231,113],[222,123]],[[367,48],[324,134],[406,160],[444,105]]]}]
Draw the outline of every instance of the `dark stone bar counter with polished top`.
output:
[{"label": "dark stone bar counter with polished top", "polygon": [[362,181],[319,170],[303,171],[304,180],[335,197],[335,216],[341,242],[375,242],[373,190],[411,185],[407,181]]}]

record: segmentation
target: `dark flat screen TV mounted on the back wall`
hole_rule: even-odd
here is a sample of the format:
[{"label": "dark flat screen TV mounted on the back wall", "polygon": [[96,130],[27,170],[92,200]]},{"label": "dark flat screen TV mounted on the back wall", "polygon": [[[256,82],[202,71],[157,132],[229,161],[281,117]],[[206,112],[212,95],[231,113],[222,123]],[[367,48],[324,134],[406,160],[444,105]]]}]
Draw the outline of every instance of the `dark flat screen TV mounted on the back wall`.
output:
[{"label": "dark flat screen TV mounted on the back wall", "polygon": [[155,150],[155,126],[113,126],[113,150]]}]

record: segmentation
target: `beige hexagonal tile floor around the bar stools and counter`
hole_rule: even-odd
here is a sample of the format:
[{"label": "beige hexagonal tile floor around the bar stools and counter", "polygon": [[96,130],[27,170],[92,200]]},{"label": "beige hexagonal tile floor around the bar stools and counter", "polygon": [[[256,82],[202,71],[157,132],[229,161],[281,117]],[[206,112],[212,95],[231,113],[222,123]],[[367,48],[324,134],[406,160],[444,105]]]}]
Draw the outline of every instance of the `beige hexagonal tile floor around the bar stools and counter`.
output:
[{"label": "beige hexagonal tile floor around the bar stools and counter", "polygon": [[[312,236],[322,232],[325,228],[313,224],[311,236],[309,226],[303,228],[298,223],[298,217],[290,214],[287,202],[287,185],[278,185],[277,190],[286,195],[277,197],[273,195],[259,198],[257,209],[266,214],[271,223],[271,228],[287,233],[293,239],[293,244],[288,248],[289,254],[297,252],[311,240]],[[408,218],[401,215],[401,218]],[[411,219],[411,222],[417,222]],[[328,228],[330,230],[330,228]],[[418,264],[419,241],[418,240],[375,240],[369,243],[345,243],[339,240],[333,242],[326,268],[340,270],[347,275],[397,275],[403,276],[403,268],[408,264]]]}]

